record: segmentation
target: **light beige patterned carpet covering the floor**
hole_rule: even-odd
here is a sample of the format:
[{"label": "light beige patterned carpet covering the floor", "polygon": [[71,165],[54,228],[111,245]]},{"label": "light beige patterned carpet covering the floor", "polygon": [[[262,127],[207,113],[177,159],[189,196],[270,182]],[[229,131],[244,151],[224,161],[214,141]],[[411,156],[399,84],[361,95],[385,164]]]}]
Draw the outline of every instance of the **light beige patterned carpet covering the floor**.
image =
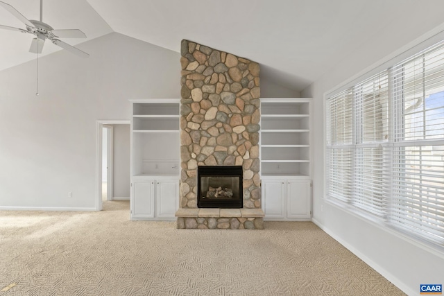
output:
[{"label": "light beige patterned carpet covering the floor", "polygon": [[0,211],[3,295],[403,295],[313,223],[176,229],[101,212]]}]

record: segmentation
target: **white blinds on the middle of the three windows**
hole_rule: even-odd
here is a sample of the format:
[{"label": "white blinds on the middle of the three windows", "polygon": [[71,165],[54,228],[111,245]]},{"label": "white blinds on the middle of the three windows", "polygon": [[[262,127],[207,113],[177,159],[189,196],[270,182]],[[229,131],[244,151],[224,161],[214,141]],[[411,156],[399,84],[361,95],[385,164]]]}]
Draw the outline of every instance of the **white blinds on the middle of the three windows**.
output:
[{"label": "white blinds on the middle of the three windows", "polygon": [[386,212],[384,148],[388,140],[388,73],[382,71],[355,89],[355,190],[353,203],[377,216]]}]

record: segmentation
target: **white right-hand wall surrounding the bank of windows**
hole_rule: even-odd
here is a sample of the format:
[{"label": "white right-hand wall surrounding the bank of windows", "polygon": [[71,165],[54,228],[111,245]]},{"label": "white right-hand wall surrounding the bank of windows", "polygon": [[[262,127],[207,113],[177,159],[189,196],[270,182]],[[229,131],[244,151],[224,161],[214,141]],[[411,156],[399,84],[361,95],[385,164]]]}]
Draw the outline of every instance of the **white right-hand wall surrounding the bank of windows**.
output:
[{"label": "white right-hand wall surrounding the bank of windows", "polygon": [[[420,284],[443,284],[443,252],[420,247],[323,200],[325,93],[444,29],[441,24],[444,3],[439,8],[424,1],[410,1],[409,4],[402,14],[393,16],[393,26],[369,36],[368,43],[363,44],[359,51],[350,53],[348,60],[338,61],[337,67],[328,69],[324,76],[302,92],[302,96],[314,98],[314,132],[311,133],[314,222],[405,293],[419,295]],[[427,17],[415,17],[418,15]]]}]

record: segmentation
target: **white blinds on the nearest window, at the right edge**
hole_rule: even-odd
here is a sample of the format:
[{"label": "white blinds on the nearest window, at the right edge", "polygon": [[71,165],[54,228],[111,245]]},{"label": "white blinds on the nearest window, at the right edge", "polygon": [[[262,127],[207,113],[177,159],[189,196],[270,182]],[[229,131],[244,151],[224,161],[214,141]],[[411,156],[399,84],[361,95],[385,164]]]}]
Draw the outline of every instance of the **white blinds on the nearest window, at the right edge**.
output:
[{"label": "white blinds on the nearest window, at the right edge", "polygon": [[393,225],[431,241],[444,238],[444,46],[393,67]]}]

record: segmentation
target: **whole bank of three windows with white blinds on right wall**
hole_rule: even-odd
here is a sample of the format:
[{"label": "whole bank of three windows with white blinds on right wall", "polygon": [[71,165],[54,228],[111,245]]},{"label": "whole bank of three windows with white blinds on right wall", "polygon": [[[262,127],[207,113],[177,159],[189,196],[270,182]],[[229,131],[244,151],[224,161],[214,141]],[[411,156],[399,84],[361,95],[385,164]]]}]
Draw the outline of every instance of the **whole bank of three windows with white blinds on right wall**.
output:
[{"label": "whole bank of three windows with white blinds on right wall", "polygon": [[327,198],[444,246],[444,43],[330,96],[326,110]]}]

